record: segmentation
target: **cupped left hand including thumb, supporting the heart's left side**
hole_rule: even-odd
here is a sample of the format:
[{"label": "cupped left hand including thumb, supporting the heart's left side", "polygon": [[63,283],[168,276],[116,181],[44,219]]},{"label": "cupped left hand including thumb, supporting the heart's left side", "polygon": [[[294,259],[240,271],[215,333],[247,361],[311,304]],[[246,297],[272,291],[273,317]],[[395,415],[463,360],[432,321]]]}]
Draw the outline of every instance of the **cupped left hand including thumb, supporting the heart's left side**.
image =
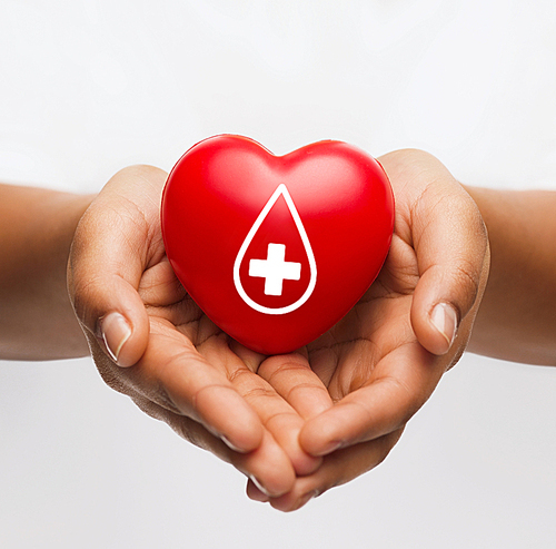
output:
[{"label": "cupped left hand including thumb, supporting the heart's left side", "polygon": [[127,168],[81,218],[68,267],[76,314],[108,385],[280,496],[322,459],[301,450],[304,420],[255,373],[265,356],[217,329],[176,278],[159,219],[166,177]]}]

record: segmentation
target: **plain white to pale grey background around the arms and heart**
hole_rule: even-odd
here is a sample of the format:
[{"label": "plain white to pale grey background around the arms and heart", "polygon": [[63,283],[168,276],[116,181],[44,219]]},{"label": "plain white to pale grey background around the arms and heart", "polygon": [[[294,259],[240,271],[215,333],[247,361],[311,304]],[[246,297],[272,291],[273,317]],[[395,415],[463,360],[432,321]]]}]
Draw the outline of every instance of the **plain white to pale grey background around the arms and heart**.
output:
[{"label": "plain white to pale grey background around the arms and heart", "polygon": [[[0,0],[0,180],[93,192],[235,133],[556,188],[555,60],[553,0]],[[384,464],[284,514],[89,359],[3,362],[0,547],[552,548],[555,395],[468,354]]]}]

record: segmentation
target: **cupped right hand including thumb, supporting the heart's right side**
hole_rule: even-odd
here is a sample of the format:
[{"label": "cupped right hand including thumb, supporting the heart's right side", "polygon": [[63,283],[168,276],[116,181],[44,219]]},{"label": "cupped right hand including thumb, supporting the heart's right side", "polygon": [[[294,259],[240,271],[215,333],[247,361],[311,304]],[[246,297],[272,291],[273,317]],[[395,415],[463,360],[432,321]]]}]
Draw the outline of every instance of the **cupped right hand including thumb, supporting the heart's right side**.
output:
[{"label": "cupped right hand including thumb, supporting the heart's right side", "polygon": [[[249,497],[294,510],[376,467],[441,375],[461,356],[489,266],[479,212],[433,156],[399,150],[379,159],[396,199],[394,238],[380,275],[350,313],[291,360],[258,373],[307,420],[299,441],[322,465],[280,498],[249,482]],[[294,390],[295,384],[312,388]],[[330,403],[315,413],[321,393]]]}]

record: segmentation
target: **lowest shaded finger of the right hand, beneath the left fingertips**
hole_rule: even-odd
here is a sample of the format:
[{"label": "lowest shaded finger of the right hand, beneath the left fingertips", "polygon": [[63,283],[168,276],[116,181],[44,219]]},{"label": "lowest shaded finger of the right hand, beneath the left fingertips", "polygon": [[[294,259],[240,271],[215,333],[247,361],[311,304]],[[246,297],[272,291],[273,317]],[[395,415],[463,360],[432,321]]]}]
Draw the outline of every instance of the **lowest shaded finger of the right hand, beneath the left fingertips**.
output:
[{"label": "lowest shaded finger of the right hand, beneath the left fingertips", "polygon": [[370,442],[338,450],[325,458],[320,469],[309,477],[296,479],[294,488],[279,498],[268,497],[248,482],[247,496],[261,502],[269,502],[280,511],[295,511],[330,488],[345,484],[380,464],[401,437],[399,429]]}]

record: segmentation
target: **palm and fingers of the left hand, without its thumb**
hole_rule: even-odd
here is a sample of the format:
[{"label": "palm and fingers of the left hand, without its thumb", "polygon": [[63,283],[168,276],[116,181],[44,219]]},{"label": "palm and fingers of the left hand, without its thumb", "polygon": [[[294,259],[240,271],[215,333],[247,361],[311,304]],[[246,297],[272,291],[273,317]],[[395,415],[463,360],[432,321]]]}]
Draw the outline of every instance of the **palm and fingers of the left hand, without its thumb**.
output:
[{"label": "palm and fingers of the left hand, without its thumb", "polygon": [[[302,419],[256,373],[265,356],[230,339],[205,315],[173,274],[163,247],[149,255],[153,259],[138,287],[149,316],[147,349],[127,370],[97,356],[103,378],[112,386],[117,378],[116,389],[143,411],[246,474],[264,479],[270,491],[282,491],[295,472],[312,472],[320,460],[299,448]],[[246,438],[255,413],[249,416],[238,408],[242,399],[265,428],[259,447]],[[234,451],[250,448],[257,452]]]}]

